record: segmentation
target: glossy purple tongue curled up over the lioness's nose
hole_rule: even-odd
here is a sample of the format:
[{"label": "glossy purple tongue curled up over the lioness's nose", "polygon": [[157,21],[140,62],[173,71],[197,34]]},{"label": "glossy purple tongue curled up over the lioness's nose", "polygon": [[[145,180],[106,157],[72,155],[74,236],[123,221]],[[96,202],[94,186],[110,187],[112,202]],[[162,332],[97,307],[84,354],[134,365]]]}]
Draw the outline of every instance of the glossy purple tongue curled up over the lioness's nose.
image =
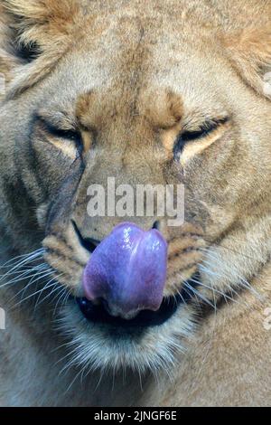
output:
[{"label": "glossy purple tongue curled up over the lioness's nose", "polygon": [[113,316],[155,311],[163,300],[166,267],[167,243],[160,231],[124,222],[91,255],[83,278],[85,297],[106,300]]}]

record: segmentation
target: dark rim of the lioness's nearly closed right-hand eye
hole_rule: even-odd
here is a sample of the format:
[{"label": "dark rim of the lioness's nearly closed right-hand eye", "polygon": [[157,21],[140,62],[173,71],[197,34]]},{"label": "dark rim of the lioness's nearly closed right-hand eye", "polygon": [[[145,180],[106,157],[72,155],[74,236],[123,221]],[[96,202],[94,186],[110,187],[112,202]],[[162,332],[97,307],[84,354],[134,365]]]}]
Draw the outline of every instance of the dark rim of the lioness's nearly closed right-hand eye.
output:
[{"label": "dark rim of the lioness's nearly closed right-hand eye", "polygon": [[204,122],[198,130],[183,131],[177,137],[175,145],[173,147],[173,155],[176,157],[180,156],[184,146],[192,141],[201,140],[201,138],[209,136],[220,126],[223,126],[229,122],[229,117],[212,119]]}]

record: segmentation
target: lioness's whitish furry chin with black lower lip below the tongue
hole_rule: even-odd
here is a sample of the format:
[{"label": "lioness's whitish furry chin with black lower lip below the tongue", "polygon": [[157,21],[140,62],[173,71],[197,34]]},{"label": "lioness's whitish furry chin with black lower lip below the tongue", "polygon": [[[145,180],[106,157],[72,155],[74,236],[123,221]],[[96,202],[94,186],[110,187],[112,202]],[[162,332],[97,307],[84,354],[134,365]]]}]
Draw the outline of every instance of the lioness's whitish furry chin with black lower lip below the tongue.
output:
[{"label": "lioness's whitish furry chin with black lower lip below the tongue", "polygon": [[[68,339],[69,367],[90,371],[131,368],[140,373],[170,370],[193,332],[192,307],[164,300],[160,311],[132,320],[101,314],[98,307],[72,300],[61,312],[61,334]],[[93,309],[94,308],[94,309]],[[94,313],[96,319],[94,318]],[[65,365],[64,365],[65,368]]]}]

